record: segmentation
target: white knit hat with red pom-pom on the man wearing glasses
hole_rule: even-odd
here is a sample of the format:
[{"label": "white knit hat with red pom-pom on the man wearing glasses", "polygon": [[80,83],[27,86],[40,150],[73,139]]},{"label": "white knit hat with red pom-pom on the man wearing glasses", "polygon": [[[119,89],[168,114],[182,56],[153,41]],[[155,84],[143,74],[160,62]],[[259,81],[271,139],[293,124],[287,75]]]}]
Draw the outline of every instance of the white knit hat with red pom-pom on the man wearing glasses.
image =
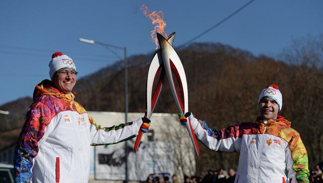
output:
[{"label": "white knit hat with red pom-pom on the man wearing glasses", "polygon": [[67,55],[63,55],[62,52],[55,52],[52,55],[52,60],[48,64],[49,77],[52,79],[56,71],[60,69],[73,69],[76,71],[73,60]]}]

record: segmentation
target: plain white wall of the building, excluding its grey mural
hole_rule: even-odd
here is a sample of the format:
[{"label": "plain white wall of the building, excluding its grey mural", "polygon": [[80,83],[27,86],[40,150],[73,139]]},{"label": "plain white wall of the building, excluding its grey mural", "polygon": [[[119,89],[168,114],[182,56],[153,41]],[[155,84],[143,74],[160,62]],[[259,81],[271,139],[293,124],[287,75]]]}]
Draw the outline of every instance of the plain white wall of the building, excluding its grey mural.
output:
[{"label": "plain white wall of the building, excluding its grey mural", "polygon": [[[93,117],[97,124],[101,127],[110,127],[124,123],[125,115],[123,112],[96,112],[88,111],[89,115]],[[143,117],[143,113],[128,113],[128,121],[134,121],[139,117]],[[154,141],[171,142],[174,144],[174,173],[180,178],[183,175],[192,176],[195,174],[195,153],[192,142],[184,126],[180,125],[177,114],[168,113],[153,113],[151,116],[151,127],[149,131],[154,131]],[[149,133],[149,132],[148,132]],[[131,139],[133,142],[136,137]],[[141,141],[148,141],[148,135],[144,134]],[[122,142],[125,143],[125,142]],[[113,146],[113,145],[112,145]],[[95,175],[95,162],[94,162],[94,147],[93,154],[91,155],[91,173],[90,182],[94,183]],[[183,167],[177,166],[179,164],[184,165]],[[152,172],[153,173],[153,172]],[[102,181],[96,180],[98,183]],[[96,183],[95,182],[95,183]],[[114,182],[116,183],[116,182]]]}]

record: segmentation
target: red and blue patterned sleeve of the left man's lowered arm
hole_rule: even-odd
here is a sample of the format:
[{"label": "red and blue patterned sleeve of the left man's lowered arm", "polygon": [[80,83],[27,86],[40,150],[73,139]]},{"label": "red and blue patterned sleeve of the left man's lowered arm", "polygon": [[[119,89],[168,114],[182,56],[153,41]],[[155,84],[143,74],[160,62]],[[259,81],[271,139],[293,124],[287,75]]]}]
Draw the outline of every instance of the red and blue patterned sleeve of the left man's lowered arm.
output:
[{"label": "red and blue patterned sleeve of the left man's lowered arm", "polygon": [[16,183],[29,183],[32,179],[33,158],[38,154],[39,140],[50,122],[50,110],[42,103],[35,103],[26,115],[14,155]]}]

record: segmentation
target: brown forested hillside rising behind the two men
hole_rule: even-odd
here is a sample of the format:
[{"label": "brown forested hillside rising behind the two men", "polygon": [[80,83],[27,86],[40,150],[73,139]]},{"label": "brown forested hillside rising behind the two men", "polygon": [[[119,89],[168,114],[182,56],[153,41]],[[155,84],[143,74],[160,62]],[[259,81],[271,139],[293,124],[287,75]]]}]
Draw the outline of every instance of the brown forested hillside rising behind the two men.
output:
[{"label": "brown forested hillside rising behind the two men", "polygon": [[[280,60],[255,57],[249,52],[214,43],[195,43],[177,50],[187,77],[189,110],[211,128],[253,121],[258,115],[260,91],[269,84],[277,84],[283,94],[280,115],[292,121],[292,127],[301,134],[310,167],[314,167],[323,160],[323,46],[296,43],[294,46],[284,50]],[[129,112],[144,114],[146,77],[151,58],[152,55],[138,55],[128,59]],[[76,100],[91,111],[124,111],[122,64],[117,62],[79,79],[75,88]],[[1,108],[18,110],[22,114],[27,110],[26,103],[29,105],[31,99],[19,99]],[[155,112],[177,113],[168,83],[163,86]],[[24,115],[9,115],[10,118],[5,120],[1,115],[1,130],[21,128]],[[237,167],[238,153],[214,153],[202,144],[199,146],[198,174],[209,168]]]}]

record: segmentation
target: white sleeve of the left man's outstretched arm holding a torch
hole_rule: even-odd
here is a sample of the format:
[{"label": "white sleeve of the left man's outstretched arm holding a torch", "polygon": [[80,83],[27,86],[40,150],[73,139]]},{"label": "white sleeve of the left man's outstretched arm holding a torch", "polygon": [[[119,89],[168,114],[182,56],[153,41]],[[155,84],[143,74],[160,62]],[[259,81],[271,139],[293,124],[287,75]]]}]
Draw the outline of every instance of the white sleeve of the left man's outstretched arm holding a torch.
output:
[{"label": "white sleeve of the left man's outstretched arm holding a torch", "polygon": [[122,123],[111,127],[101,127],[96,124],[93,118],[89,115],[89,122],[91,123],[91,146],[111,145],[126,141],[138,135],[142,119],[136,121]]}]

